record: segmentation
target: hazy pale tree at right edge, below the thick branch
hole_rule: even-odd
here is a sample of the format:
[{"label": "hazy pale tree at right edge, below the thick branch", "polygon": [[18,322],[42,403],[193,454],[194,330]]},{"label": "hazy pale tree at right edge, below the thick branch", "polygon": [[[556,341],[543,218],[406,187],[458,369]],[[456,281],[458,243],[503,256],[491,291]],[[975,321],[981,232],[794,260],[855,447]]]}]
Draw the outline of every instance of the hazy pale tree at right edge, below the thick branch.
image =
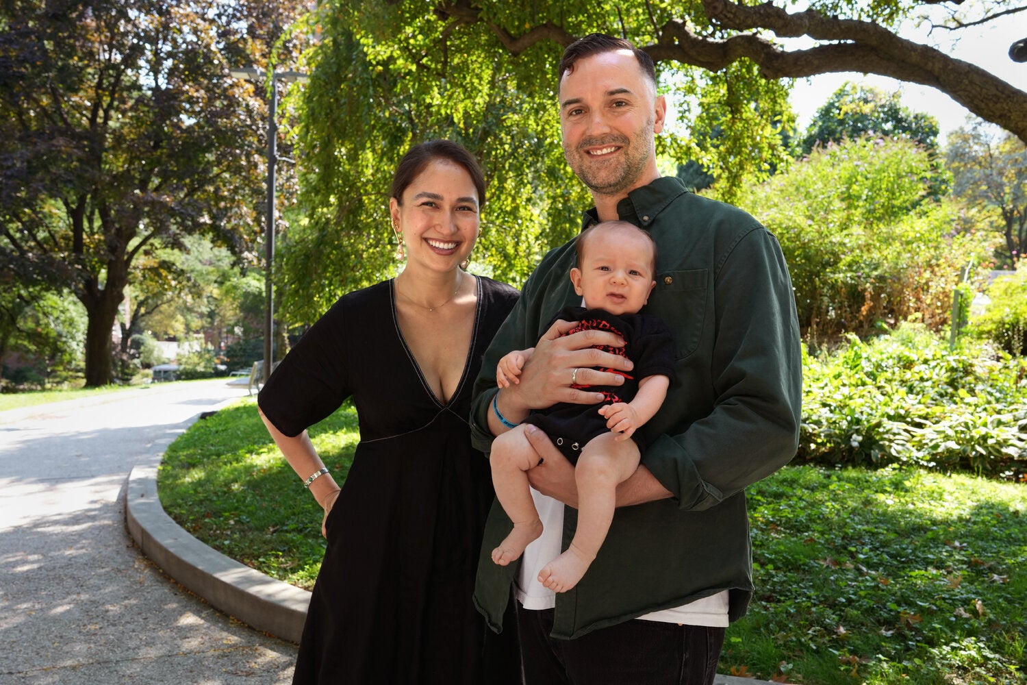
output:
[{"label": "hazy pale tree at right edge, below the thick branch", "polygon": [[1027,146],[978,122],[949,136],[946,157],[954,194],[983,211],[1004,241],[999,261],[1016,268],[1027,251]]}]

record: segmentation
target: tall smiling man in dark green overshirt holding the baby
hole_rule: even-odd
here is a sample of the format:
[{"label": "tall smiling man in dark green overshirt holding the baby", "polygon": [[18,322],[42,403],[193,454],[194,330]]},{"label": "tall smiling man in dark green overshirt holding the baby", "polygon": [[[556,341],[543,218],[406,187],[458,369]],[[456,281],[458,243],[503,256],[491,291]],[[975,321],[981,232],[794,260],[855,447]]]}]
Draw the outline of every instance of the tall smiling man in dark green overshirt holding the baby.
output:
[{"label": "tall smiling man in dark green overshirt holding the baby", "polygon": [[[582,38],[564,52],[559,98],[567,162],[596,203],[582,228],[620,219],[656,241],[656,288],[644,311],[674,333],[675,377],[640,431],[647,448],[618,486],[606,541],[560,595],[537,576],[574,531],[574,472],[548,436],[529,429],[543,457],[529,478],[547,534],[520,565],[495,565],[488,550],[510,523],[493,506],[474,601],[500,630],[512,582],[529,685],[713,683],[724,630],[753,592],[744,490],[787,463],[798,441],[801,353],[788,269],[751,216],[659,177],[654,136],[667,108],[644,52],[609,36]],[[471,411],[480,449],[532,409],[597,402],[580,386],[617,384],[613,372],[631,371],[592,348],[620,344],[610,333],[561,337],[573,322],[559,321],[542,329],[579,304],[573,266],[572,243],[549,252],[489,347]],[[532,346],[520,383],[497,390],[499,357]]]}]

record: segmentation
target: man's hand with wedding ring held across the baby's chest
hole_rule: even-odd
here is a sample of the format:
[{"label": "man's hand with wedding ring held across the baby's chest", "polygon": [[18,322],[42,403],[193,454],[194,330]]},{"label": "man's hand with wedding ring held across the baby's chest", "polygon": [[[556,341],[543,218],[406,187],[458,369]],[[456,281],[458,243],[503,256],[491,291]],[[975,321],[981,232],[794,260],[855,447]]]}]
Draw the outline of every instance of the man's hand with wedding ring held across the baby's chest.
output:
[{"label": "man's hand with wedding ring held across the baby's chest", "polygon": [[[521,382],[503,388],[499,408],[510,420],[524,420],[532,409],[543,409],[566,402],[595,405],[603,401],[601,392],[591,392],[588,385],[621,385],[624,379],[613,371],[631,371],[631,359],[619,354],[594,349],[594,345],[622,347],[620,336],[608,331],[579,331],[569,336],[577,321],[556,321],[535,346],[521,370]],[[610,369],[599,371],[592,367]],[[512,417],[512,418],[511,418]]]}]

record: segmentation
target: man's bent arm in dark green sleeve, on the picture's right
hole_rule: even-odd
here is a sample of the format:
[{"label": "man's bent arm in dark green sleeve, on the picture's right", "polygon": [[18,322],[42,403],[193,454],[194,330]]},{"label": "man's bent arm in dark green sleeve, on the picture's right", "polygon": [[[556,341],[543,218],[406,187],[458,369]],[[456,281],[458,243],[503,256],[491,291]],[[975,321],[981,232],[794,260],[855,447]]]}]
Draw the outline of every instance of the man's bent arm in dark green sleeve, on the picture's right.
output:
[{"label": "man's bent arm in dark green sleeve, on the picture's right", "polygon": [[[714,506],[788,463],[801,421],[795,296],[776,238],[754,227],[711,273],[713,308],[707,316],[716,335],[712,349],[691,368],[693,378],[709,379],[702,383],[709,382],[703,392],[711,410],[676,418],[687,415],[694,399],[687,386],[676,389],[653,421],[683,430],[668,430],[642,455],[642,464],[685,510]],[[664,309],[668,303],[673,306],[673,300],[664,300]],[[670,320],[669,312],[658,313]]]}]

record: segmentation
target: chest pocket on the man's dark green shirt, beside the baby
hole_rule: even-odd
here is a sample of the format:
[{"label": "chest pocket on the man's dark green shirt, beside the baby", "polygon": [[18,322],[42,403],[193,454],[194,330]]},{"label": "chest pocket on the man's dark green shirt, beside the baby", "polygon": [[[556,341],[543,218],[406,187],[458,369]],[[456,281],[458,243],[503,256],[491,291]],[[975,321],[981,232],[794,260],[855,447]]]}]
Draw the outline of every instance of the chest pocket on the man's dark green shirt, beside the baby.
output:
[{"label": "chest pocket on the man's dark green shirt, beside the baby", "polygon": [[663,271],[646,311],[660,316],[674,334],[674,358],[683,359],[698,347],[706,324],[709,269]]}]

